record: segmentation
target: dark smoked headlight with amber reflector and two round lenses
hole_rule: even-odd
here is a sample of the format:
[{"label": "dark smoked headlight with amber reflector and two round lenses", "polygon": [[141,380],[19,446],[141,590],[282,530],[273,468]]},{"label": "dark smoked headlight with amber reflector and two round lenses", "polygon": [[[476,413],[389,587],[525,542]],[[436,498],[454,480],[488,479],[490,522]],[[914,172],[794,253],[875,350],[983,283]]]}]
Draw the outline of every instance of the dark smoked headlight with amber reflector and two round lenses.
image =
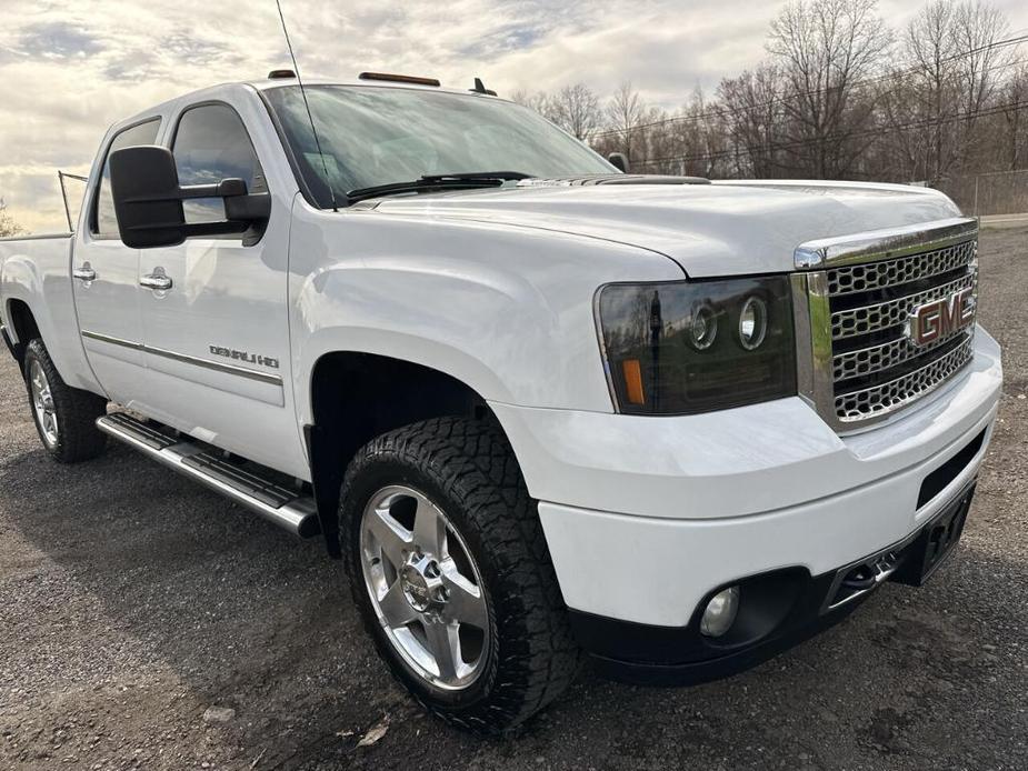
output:
[{"label": "dark smoked headlight with amber reflector and two round lenses", "polygon": [[621,412],[692,414],[796,393],[786,277],[610,284],[597,311]]}]

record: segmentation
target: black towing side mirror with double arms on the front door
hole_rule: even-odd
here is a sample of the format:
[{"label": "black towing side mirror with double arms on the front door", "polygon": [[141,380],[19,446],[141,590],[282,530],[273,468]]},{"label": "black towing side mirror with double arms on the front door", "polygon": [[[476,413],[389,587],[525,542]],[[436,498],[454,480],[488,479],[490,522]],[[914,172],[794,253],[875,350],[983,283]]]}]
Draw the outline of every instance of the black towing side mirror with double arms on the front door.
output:
[{"label": "black towing side mirror with double arms on the front door", "polygon": [[[241,179],[179,187],[174,157],[168,148],[122,148],[111,153],[110,167],[118,231],[122,243],[132,249],[176,247],[197,236],[249,236],[248,231],[256,234],[243,238],[243,243],[256,243],[271,216],[271,197],[248,194]],[[182,201],[193,198],[222,199],[224,221],[188,224]]]}]

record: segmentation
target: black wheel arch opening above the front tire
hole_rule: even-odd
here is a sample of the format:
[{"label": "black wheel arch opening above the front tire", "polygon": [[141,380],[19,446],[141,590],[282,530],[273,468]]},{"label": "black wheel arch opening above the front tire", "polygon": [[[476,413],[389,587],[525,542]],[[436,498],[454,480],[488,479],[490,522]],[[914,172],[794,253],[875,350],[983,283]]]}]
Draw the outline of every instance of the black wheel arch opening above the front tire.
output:
[{"label": "black wheel arch opening above the front tire", "polygon": [[463,380],[389,356],[323,353],[311,369],[308,397],[305,442],[321,531],[332,557],[339,557],[343,474],[361,447],[387,431],[448,415],[495,421],[502,432],[486,399]]}]

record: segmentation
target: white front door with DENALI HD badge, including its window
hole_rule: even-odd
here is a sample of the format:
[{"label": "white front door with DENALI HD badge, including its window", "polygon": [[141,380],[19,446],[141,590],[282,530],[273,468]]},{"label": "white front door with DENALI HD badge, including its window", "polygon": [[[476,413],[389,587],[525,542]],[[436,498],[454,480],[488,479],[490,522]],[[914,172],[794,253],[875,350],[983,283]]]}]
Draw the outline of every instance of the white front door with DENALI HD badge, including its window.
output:
[{"label": "white front door with DENALI HD badge, including its window", "polygon": [[[170,147],[179,183],[241,178],[269,192],[229,102],[186,107]],[[224,219],[220,199],[184,204],[190,223]],[[140,294],[150,393],[147,412],[191,435],[300,475],[303,451],[289,388],[289,207],[272,197],[263,233],[192,238],[142,251]]]}]

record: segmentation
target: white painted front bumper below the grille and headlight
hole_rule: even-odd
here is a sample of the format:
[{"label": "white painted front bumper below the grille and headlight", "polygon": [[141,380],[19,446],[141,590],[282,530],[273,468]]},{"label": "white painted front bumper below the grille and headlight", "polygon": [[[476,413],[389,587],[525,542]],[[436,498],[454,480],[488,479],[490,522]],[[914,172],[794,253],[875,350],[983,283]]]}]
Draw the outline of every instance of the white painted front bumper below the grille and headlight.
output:
[{"label": "white painted front bumper below the grille and headlight", "polygon": [[567,605],[681,629],[718,587],[784,569],[821,577],[905,541],[987,451],[1002,368],[988,333],[975,339],[974,361],[946,388],[850,437],[798,398],[683,418],[492,404],[540,500]]}]

